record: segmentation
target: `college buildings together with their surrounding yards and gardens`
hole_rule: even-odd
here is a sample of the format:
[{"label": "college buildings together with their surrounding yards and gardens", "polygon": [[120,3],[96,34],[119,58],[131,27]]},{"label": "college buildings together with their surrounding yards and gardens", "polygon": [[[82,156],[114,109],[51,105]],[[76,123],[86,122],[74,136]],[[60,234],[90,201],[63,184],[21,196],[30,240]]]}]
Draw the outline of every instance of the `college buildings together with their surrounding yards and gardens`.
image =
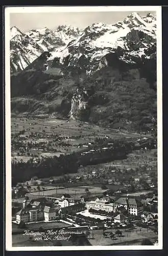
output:
[{"label": "college buildings together with their surrounding yards and gardens", "polygon": [[[131,230],[133,233],[135,230],[136,232],[146,230],[148,236],[151,234],[152,241],[157,243],[156,191],[149,191],[145,195],[142,193],[141,197],[120,193],[118,190],[113,195],[108,195],[108,192],[109,190],[106,189],[106,193],[97,197],[92,196],[87,190],[83,196],[75,198],[69,194],[62,196],[25,194],[24,198],[20,198],[19,207],[18,205],[16,207],[19,210],[15,209],[15,214],[12,215],[12,236],[19,236],[18,233],[27,229],[57,230],[65,225],[66,228],[81,228],[87,236],[88,232],[89,234],[94,232],[94,236],[97,236],[98,232],[100,236],[102,230],[104,238],[109,237],[109,232],[120,234],[121,237],[127,232],[126,241]],[[114,234],[110,240],[113,237]]]}]

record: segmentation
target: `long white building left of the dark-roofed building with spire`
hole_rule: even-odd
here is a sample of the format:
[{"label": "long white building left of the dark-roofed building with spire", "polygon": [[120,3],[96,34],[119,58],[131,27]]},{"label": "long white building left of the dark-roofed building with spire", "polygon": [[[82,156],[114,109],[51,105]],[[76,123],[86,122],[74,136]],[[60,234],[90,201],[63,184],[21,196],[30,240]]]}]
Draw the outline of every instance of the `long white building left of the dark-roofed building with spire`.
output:
[{"label": "long white building left of the dark-roofed building with spire", "polygon": [[99,199],[97,198],[95,201],[86,202],[87,209],[94,209],[94,210],[105,210],[107,212],[113,211],[114,206],[112,203],[109,203],[106,199]]}]

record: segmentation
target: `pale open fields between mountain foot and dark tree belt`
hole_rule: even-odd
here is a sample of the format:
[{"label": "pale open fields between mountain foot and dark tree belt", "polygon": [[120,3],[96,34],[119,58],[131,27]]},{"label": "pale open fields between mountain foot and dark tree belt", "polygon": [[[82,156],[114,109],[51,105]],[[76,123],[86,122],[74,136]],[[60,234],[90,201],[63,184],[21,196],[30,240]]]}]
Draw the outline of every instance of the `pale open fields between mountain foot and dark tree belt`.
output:
[{"label": "pale open fields between mountain foot and dark tree belt", "polygon": [[[19,132],[21,134],[18,134]],[[94,141],[97,136],[100,138],[107,136],[115,139],[144,137],[144,135],[136,133],[106,129],[85,122],[59,120],[52,117],[46,119],[12,117],[11,134],[12,160],[20,161],[22,159],[23,162],[28,161],[32,156],[52,157],[81,151],[84,148],[83,145]],[[147,136],[150,137],[150,135]],[[36,143],[36,145],[30,147],[29,152],[19,152],[20,147],[16,148],[18,141],[24,146],[28,143]]]}]

